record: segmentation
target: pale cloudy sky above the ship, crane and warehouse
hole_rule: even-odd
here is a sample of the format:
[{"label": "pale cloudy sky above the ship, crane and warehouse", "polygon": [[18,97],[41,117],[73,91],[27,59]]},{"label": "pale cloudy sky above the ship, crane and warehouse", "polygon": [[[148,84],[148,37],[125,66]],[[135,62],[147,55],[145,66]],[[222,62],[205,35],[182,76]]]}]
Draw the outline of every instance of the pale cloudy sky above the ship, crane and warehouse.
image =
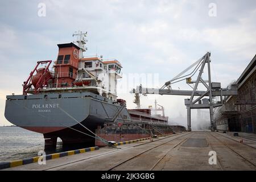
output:
[{"label": "pale cloudy sky above the ship, crane and warehouse", "polygon": [[[153,86],[160,87],[208,51],[212,81],[226,87],[256,53],[255,22],[256,1],[0,0],[0,126],[11,125],[4,117],[6,95],[22,94],[36,61],[56,60],[57,44],[72,42],[75,31],[88,32],[86,56],[122,63],[129,89],[137,84],[129,74],[155,76]],[[133,108],[129,89],[118,97]],[[173,89],[189,87],[179,82]],[[156,99],[172,124],[186,126],[184,98],[148,95],[141,104],[148,107]],[[192,129],[208,124],[207,110],[192,111]]]}]

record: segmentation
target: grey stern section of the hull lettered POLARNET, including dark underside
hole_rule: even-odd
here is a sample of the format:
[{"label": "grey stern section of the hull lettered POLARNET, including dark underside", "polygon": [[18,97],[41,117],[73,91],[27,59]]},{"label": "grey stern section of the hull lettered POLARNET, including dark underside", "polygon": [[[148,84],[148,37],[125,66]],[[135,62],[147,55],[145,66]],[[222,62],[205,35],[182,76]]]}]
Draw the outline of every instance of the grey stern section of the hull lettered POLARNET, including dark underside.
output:
[{"label": "grey stern section of the hull lettered POLARNET, including dark underside", "polygon": [[[121,106],[93,93],[7,96],[5,117],[24,129],[42,133],[46,146],[82,143],[94,146],[97,127],[113,122]],[[130,119],[126,108],[117,116]],[[91,133],[92,132],[92,133]],[[89,136],[91,135],[91,136]]]}]

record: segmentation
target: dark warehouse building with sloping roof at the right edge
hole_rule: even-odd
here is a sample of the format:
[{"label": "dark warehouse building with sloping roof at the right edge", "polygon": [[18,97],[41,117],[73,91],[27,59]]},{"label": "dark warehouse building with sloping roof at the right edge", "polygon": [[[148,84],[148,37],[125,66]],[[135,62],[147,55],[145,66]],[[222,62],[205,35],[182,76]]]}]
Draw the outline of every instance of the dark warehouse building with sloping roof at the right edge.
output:
[{"label": "dark warehouse building with sloping roof at the right edge", "polygon": [[238,95],[214,111],[217,130],[256,133],[256,55],[236,81]]}]

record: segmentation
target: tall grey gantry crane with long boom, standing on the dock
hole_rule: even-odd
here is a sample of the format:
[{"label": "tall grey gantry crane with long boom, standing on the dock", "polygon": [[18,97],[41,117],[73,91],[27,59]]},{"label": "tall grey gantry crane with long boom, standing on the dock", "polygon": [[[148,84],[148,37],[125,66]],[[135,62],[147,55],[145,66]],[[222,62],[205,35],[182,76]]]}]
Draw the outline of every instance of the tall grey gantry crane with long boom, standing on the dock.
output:
[{"label": "tall grey gantry crane with long boom, standing on the dock", "polygon": [[[237,85],[232,84],[230,88],[221,88],[220,82],[212,82],[210,75],[210,52],[205,53],[203,57],[195,63],[184,69],[177,76],[167,81],[160,89],[159,88],[143,88],[141,85],[133,89],[133,93],[146,94],[160,94],[160,95],[175,95],[175,96],[190,96],[185,99],[185,106],[187,107],[187,125],[188,131],[191,131],[191,109],[209,109],[210,111],[210,129],[216,130],[216,124],[213,119],[213,108],[224,104],[223,96],[237,95]],[[205,67],[208,69],[208,80],[204,80],[202,75]],[[191,71],[191,73],[187,73]],[[192,81],[192,76],[199,71],[195,81]],[[186,81],[192,90],[175,90],[171,85],[176,82]],[[191,84],[195,84],[192,85]],[[197,90],[199,84],[203,84],[206,90]],[[198,96],[194,99],[194,97]],[[209,97],[209,98],[204,98]],[[220,97],[220,101],[214,102],[213,98]],[[203,101],[203,102],[202,102]]]}]

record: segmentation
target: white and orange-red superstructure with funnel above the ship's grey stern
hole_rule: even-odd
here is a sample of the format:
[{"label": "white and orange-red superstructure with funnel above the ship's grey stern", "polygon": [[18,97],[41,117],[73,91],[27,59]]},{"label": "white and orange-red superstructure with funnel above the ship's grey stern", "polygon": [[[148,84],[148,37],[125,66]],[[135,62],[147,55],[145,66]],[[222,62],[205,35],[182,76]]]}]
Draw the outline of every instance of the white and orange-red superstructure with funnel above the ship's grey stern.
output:
[{"label": "white and orange-red superstructure with funnel above the ship's grey stern", "polygon": [[[92,92],[117,101],[117,80],[122,78],[121,63],[116,59],[104,60],[103,56],[84,57],[83,53],[87,49],[85,47],[86,34],[79,31],[73,36],[77,36],[76,44],[57,44],[59,53],[57,60],[54,61],[52,77],[42,80],[47,84],[42,86],[40,92]],[[44,63],[47,62],[42,62]],[[35,85],[38,79],[35,78],[40,74],[41,72],[37,72],[35,76],[32,76],[31,82],[34,88],[30,87],[27,93],[36,93]],[[24,87],[27,88],[28,84]]]}]

